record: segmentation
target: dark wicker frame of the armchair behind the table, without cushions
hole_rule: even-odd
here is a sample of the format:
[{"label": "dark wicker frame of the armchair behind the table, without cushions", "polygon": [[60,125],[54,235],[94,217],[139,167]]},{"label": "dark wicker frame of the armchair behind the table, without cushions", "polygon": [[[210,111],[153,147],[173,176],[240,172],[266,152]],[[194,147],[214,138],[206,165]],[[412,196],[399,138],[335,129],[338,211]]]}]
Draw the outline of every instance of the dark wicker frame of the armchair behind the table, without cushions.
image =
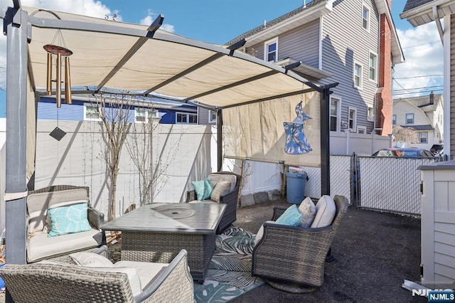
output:
[{"label": "dark wicker frame of the armchair behind the table, without cushions", "polygon": [[[223,233],[224,230],[230,227],[232,223],[237,220],[237,201],[239,196],[240,181],[242,176],[234,174],[230,171],[218,171],[217,173],[212,173],[217,175],[234,175],[236,176],[235,187],[229,193],[226,193],[224,196],[220,196],[220,203],[226,204],[225,213],[223,218],[220,220],[220,224],[216,230],[216,233],[219,235]],[[196,200],[196,193],[194,191],[188,191],[186,196],[186,201],[191,202]]]}]

